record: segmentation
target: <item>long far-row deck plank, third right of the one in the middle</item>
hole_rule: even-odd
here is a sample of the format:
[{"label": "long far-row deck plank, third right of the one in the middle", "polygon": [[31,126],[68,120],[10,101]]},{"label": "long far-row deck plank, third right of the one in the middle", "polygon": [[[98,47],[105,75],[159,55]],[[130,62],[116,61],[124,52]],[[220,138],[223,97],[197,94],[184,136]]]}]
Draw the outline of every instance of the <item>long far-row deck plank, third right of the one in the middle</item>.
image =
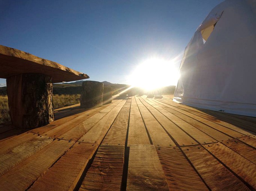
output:
[{"label": "long far-row deck plank, third right of the one in the middle", "polygon": [[[150,101],[146,100],[146,102],[149,104]],[[190,125],[186,121],[178,118],[177,116],[173,115],[172,113],[168,112],[167,110],[163,109],[160,106],[157,106],[156,104],[152,104],[154,108],[156,108],[159,112],[161,112],[163,115],[166,116],[169,120],[174,122],[177,126],[179,126],[181,129],[183,129],[187,134],[195,138],[199,143],[213,143],[217,142],[213,138],[211,138],[209,135],[205,134],[204,132],[200,131],[199,129],[195,128],[194,126]]]}]

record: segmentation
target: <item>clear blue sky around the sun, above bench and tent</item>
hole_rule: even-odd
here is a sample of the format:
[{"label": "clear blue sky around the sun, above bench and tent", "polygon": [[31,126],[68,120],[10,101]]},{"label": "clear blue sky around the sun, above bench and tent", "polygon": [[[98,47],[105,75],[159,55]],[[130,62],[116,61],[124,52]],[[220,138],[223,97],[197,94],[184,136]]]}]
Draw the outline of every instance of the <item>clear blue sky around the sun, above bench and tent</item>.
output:
[{"label": "clear blue sky around the sun, above bench and tent", "polygon": [[0,44],[90,80],[128,84],[133,69],[152,57],[179,56],[178,69],[196,28],[222,1],[0,0]]}]

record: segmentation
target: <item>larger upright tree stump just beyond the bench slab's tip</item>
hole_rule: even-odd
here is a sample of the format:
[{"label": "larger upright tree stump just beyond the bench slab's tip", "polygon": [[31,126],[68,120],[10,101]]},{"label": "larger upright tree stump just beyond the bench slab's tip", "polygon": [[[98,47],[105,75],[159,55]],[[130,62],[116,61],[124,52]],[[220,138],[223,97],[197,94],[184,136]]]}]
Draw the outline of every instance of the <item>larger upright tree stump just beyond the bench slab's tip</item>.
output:
[{"label": "larger upright tree stump just beyond the bench slab's tip", "polygon": [[81,107],[92,108],[102,106],[103,83],[84,81],[81,91]]}]

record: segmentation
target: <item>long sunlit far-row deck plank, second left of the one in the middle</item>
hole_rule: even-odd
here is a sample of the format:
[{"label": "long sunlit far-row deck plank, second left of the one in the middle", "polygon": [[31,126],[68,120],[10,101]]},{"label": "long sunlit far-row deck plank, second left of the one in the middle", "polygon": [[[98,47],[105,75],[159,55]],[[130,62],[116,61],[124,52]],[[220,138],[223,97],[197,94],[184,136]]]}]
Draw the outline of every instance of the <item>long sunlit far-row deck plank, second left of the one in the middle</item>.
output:
[{"label": "long sunlit far-row deck plank, second left of the one in the middle", "polygon": [[100,144],[125,103],[126,100],[121,101],[120,104],[112,109],[106,116],[96,123],[90,131],[81,137],[79,142]]}]

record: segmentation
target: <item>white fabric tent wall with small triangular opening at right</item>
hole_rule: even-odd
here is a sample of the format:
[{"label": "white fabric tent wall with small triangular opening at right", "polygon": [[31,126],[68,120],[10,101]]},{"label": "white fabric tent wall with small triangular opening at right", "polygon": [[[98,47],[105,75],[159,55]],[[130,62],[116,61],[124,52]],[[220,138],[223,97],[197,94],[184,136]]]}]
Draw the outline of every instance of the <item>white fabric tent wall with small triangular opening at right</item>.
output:
[{"label": "white fabric tent wall with small triangular opening at right", "polygon": [[174,99],[256,117],[256,0],[226,0],[187,45]]}]

